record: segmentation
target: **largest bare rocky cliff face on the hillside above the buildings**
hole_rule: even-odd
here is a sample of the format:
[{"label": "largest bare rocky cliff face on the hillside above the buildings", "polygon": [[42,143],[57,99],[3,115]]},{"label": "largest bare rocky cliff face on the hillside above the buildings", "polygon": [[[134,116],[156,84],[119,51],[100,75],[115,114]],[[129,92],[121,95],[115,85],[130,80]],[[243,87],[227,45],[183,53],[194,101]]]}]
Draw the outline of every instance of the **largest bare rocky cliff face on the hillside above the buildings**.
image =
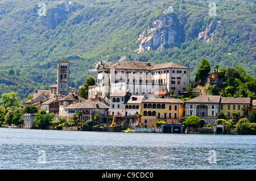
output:
[{"label": "largest bare rocky cliff face on the hillside above the buildings", "polygon": [[179,20],[175,14],[162,16],[155,20],[147,30],[144,30],[139,39],[138,53],[146,52],[147,50],[158,50],[168,48],[180,39]]}]

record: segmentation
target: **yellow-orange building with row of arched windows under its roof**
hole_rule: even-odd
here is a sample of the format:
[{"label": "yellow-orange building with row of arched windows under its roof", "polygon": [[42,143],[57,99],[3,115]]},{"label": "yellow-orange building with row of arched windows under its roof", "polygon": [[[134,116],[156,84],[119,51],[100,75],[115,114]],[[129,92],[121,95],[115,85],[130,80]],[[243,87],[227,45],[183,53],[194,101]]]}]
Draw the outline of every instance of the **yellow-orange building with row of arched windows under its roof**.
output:
[{"label": "yellow-orange building with row of arched windows under its roof", "polygon": [[141,123],[144,128],[153,128],[158,121],[181,123],[185,115],[185,103],[180,99],[151,98],[142,102]]}]

